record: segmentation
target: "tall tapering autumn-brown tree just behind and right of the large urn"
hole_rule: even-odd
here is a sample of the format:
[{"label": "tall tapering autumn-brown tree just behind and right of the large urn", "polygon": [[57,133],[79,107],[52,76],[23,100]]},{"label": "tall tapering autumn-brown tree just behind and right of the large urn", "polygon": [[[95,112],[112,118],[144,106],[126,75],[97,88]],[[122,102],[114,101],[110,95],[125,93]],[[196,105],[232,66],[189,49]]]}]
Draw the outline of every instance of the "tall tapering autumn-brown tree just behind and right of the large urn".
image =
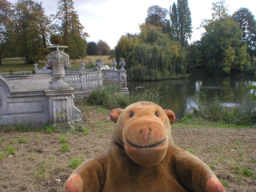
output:
[{"label": "tall tapering autumn-brown tree just behind and right of the large urn", "polygon": [[70,58],[83,58],[86,56],[86,37],[84,27],[79,22],[77,11],[74,10],[72,0],[58,0],[58,12],[54,17],[55,26],[62,35],[63,44],[68,46],[67,53]]}]

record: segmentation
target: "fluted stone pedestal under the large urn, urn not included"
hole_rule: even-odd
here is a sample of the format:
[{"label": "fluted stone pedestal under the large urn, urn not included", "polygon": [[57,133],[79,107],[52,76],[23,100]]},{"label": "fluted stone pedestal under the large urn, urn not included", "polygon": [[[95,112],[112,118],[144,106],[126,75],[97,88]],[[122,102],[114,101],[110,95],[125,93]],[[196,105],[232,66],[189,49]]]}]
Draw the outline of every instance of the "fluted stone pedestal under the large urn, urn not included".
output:
[{"label": "fluted stone pedestal under the large urn, urn not included", "polygon": [[50,124],[57,130],[74,130],[82,126],[82,112],[74,106],[74,88],[45,90],[49,98]]}]

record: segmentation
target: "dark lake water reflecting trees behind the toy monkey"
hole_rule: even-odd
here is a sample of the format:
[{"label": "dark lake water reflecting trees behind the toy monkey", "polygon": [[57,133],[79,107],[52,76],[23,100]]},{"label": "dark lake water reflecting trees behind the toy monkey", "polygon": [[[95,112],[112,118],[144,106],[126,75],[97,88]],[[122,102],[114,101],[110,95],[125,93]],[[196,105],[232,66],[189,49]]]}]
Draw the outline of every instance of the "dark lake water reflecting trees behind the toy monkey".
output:
[{"label": "dark lake water reflecting trees behind the toy monkey", "polygon": [[[191,106],[194,106],[194,95],[205,92],[209,98],[218,95],[223,98],[223,105],[234,106],[242,102],[250,90],[247,86],[250,83],[256,84],[254,77],[208,77],[197,76],[186,79],[175,79],[155,82],[128,82],[130,94],[135,91],[154,91],[162,94],[160,106],[163,109],[173,110],[177,118],[182,118]],[[142,86],[143,90],[136,90],[135,87]],[[255,94],[255,91],[254,91]]]}]

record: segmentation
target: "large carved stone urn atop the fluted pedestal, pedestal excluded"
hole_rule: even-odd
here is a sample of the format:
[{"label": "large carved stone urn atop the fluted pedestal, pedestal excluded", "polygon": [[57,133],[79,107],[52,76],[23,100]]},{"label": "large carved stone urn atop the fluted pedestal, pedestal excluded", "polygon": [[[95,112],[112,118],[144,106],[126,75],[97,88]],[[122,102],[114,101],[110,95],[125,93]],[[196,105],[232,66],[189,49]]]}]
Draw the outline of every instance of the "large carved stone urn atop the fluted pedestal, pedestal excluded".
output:
[{"label": "large carved stone urn atop the fluted pedestal, pedestal excluded", "polygon": [[46,57],[46,68],[53,70],[53,82],[50,83],[50,90],[68,89],[70,86],[63,81],[65,69],[70,68],[70,56],[64,52],[67,46],[49,46],[53,51]]}]

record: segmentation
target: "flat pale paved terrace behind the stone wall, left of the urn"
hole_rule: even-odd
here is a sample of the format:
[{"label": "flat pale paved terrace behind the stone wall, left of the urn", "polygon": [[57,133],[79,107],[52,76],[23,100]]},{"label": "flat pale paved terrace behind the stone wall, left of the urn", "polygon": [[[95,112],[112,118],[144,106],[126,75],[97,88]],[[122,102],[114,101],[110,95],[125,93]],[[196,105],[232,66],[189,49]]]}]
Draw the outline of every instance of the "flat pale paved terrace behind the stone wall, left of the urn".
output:
[{"label": "flat pale paved terrace behind the stone wall, left of the urn", "polygon": [[7,80],[12,92],[49,90],[51,74],[32,74],[31,78]]}]

